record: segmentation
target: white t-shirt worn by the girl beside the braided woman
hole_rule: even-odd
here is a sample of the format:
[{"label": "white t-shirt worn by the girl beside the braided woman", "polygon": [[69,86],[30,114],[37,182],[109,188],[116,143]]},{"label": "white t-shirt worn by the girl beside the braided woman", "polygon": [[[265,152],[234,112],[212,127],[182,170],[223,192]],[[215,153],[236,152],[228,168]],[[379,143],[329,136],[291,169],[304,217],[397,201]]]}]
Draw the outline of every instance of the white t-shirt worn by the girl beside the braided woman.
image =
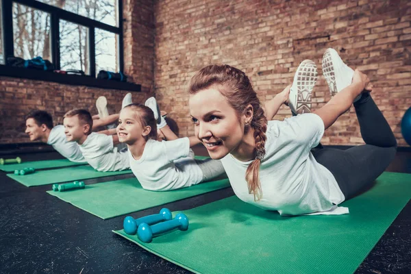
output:
[{"label": "white t-shirt worn by the girl beside the braided woman", "polygon": [[185,188],[203,179],[203,171],[189,154],[187,137],[162,142],[149,139],[140,159],[135,160],[129,152],[130,167],[147,190]]}]

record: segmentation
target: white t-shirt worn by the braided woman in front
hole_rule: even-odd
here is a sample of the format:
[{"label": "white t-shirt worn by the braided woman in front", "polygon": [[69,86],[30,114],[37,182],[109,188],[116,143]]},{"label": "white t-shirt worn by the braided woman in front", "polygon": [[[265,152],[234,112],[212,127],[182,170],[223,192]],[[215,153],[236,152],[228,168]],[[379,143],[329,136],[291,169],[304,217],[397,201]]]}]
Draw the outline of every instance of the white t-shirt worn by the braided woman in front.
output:
[{"label": "white t-shirt worn by the braided woman in front", "polygon": [[241,162],[231,154],[221,162],[236,195],[246,203],[281,215],[347,214],[334,175],[310,152],[324,133],[323,120],[316,114],[301,114],[284,121],[269,121],[266,155],[260,165],[262,198],[249,194],[245,173],[252,161]]}]

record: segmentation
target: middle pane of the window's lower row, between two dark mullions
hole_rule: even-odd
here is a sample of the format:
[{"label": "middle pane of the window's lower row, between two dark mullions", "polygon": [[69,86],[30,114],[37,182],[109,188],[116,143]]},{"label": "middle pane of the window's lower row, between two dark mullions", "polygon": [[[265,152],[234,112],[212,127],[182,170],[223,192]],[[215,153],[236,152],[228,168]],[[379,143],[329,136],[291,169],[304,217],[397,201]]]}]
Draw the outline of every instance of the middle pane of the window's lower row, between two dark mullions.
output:
[{"label": "middle pane of the window's lower row, between two dark mullions", "polygon": [[60,69],[88,73],[88,28],[60,20]]}]

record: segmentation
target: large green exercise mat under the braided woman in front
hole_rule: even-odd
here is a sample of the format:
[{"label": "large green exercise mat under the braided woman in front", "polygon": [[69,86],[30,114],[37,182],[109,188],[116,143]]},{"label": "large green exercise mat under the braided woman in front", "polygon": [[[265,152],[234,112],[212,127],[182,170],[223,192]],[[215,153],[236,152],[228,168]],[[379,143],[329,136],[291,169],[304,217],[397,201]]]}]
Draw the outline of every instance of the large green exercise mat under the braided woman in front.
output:
[{"label": "large green exercise mat under the braided woman in front", "polygon": [[282,217],[229,197],[186,210],[186,232],[176,229],[149,244],[114,233],[195,273],[348,274],[410,197],[411,174],[384,173],[371,190],[342,204],[345,215]]}]

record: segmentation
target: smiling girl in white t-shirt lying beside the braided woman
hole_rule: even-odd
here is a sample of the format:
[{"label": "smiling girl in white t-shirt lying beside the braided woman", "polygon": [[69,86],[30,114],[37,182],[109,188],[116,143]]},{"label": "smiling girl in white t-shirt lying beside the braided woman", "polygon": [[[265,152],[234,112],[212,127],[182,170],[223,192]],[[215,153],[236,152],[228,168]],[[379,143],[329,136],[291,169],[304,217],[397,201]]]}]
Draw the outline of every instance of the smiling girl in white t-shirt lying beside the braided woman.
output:
[{"label": "smiling girl in white t-shirt lying beside the braided woman", "polygon": [[[133,103],[120,112],[119,141],[127,144],[130,168],[142,188],[155,191],[185,188],[225,173],[219,160],[195,160],[190,147],[200,141],[195,137],[177,138],[164,119],[160,119],[160,131],[167,141],[156,140],[158,122],[151,108]],[[175,140],[170,140],[173,137]]]}]

